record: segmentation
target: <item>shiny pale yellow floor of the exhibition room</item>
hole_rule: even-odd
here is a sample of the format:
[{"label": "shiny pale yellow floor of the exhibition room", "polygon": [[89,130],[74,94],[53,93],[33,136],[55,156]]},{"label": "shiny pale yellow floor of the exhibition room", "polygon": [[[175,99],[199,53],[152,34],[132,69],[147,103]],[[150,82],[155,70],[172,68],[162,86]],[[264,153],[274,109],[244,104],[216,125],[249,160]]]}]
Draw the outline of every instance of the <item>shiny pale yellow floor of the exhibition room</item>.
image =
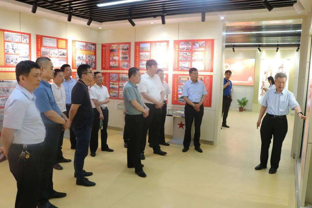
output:
[{"label": "shiny pale yellow floor of the exhibition room", "polygon": [[[283,144],[280,168],[274,175],[268,169],[255,171],[259,164],[260,132],[256,129],[258,114],[230,111],[229,129],[222,129],[217,147],[202,144],[203,153],[193,148],[163,147],[167,156],[155,155],[146,148],[144,171],[140,178],[127,168],[126,149],[119,132],[109,130],[108,144],[114,152],[98,151],[86,158],[85,170],[94,187],[75,185],[73,162],[62,163],[64,170],[54,170],[56,191],[66,192],[62,199],[50,200],[60,208],[71,207],[216,207],[216,208],[282,208],[295,207],[294,160],[290,157],[294,117],[289,116],[289,132]],[[65,139],[66,158],[74,151]],[[271,151],[270,151],[271,152]],[[14,206],[16,183],[8,163],[0,164],[0,207]]]}]

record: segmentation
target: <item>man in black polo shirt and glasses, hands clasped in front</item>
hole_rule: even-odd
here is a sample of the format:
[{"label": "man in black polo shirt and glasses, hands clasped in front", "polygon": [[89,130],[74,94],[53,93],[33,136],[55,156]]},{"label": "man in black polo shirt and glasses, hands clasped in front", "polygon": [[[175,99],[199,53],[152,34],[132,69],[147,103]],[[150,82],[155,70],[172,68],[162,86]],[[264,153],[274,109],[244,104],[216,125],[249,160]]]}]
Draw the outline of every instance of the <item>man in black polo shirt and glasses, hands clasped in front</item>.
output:
[{"label": "man in black polo shirt and glasses, hands clasped in front", "polygon": [[88,85],[93,80],[93,70],[90,65],[81,64],[77,69],[77,74],[79,80],[71,91],[71,109],[69,111],[69,122],[76,135],[74,159],[76,185],[95,186],[95,182],[85,178],[93,173],[83,170],[93,124],[93,108],[88,92]]}]

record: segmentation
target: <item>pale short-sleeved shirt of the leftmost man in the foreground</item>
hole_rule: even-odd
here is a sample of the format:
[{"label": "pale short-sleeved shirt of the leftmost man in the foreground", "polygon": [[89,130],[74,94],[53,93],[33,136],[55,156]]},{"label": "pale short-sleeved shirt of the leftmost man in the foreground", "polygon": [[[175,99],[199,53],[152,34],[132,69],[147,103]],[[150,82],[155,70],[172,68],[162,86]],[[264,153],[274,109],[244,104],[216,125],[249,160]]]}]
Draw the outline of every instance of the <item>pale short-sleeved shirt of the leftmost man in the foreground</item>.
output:
[{"label": "pale short-sleeved shirt of the leftmost man in the foreground", "polygon": [[7,99],[3,127],[16,129],[13,144],[38,144],[44,141],[46,128],[35,100],[34,94],[18,84]]}]

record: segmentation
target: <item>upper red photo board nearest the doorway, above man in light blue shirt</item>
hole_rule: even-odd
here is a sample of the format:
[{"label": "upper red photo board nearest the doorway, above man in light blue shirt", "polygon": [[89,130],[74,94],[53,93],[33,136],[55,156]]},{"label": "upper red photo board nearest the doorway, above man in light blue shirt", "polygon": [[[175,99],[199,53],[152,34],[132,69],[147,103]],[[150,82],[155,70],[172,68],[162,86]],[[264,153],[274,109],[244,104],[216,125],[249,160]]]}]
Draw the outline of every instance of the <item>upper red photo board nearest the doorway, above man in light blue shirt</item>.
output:
[{"label": "upper red photo board nearest the doorway, above man in light blue shirt", "polygon": [[177,40],[173,42],[173,71],[213,72],[213,39]]}]

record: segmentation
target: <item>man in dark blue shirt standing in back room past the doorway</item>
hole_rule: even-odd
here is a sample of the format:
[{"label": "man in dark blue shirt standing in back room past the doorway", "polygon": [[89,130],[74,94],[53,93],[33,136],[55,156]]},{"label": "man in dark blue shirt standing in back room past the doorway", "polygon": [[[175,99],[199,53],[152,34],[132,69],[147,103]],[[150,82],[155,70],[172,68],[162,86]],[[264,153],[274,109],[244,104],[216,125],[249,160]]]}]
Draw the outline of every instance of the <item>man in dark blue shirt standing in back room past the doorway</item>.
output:
[{"label": "man in dark blue shirt standing in back room past the doorway", "polygon": [[227,114],[229,113],[230,105],[232,102],[232,82],[230,77],[232,76],[232,71],[226,70],[223,79],[223,100],[222,100],[222,127],[230,128],[227,125]]}]

